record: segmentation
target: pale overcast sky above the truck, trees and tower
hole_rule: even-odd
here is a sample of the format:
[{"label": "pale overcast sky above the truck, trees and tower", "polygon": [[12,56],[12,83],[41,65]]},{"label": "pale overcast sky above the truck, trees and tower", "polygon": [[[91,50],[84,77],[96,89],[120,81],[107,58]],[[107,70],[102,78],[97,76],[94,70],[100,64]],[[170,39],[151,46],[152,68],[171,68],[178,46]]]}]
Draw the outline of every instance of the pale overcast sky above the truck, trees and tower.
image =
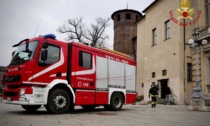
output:
[{"label": "pale overcast sky above the truck, trees and tower", "polygon": [[[65,41],[56,29],[69,18],[83,17],[86,25],[95,18],[111,17],[117,10],[134,9],[142,12],[154,0],[0,0],[0,66],[7,66],[12,45],[25,38],[53,33]],[[113,21],[106,33],[113,43]],[[37,31],[37,32],[36,32]]]}]

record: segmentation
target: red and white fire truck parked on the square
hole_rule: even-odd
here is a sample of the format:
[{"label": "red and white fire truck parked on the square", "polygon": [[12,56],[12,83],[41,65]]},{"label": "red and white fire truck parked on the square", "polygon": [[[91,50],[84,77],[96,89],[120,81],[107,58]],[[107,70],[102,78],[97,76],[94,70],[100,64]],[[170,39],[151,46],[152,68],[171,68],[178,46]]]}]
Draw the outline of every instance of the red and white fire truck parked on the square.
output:
[{"label": "red and white fire truck parked on the square", "polygon": [[36,111],[65,113],[74,106],[120,110],[136,98],[136,62],[110,50],[61,42],[48,34],[13,47],[1,101]]}]

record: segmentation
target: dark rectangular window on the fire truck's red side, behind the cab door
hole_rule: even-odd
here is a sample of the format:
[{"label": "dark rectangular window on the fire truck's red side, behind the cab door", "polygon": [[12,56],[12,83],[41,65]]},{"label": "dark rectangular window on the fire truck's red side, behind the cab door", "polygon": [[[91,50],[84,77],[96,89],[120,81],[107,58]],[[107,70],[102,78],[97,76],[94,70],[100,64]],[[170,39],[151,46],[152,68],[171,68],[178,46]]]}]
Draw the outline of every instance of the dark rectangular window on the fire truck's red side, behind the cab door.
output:
[{"label": "dark rectangular window on the fire truck's red side, behind the cab door", "polygon": [[92,68],[92,55],[86,52],[79,52],[79,66],[84,68]]}]

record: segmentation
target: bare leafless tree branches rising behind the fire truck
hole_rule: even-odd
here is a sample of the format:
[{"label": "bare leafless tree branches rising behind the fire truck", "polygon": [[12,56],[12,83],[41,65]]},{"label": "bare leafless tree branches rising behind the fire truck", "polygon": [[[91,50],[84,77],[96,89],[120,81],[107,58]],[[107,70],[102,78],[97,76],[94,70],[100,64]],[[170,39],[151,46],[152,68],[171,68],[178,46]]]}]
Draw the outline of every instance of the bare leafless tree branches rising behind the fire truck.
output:
[{"label": "bare leafless tree branches rising behind the fire truck", "polygon": [[58,32],[67,34],[68,41],[78,40],[81,43],[90,43],[92,47],[104,47],[109,38],[105,30],[110,26],[110,18],[96,18],[91,27],[86,27],[83,18],[68,19],[62,26],[59,26]]}]

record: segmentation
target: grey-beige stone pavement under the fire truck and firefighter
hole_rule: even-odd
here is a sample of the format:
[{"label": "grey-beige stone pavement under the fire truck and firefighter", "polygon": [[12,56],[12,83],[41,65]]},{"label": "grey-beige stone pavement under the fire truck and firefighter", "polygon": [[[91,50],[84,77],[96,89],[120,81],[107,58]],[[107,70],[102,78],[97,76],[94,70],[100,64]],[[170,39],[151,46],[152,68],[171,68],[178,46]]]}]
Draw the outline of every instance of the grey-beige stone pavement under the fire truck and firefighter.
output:
[{"label": "grey-beige stone pavement under the fire truck and firefighter", "polygon": [[184,105],[124,105],[117,112],[76,107],[74,113],[52,115],[44,107],[28,113],[0,103],[0,126],[210,126],[210,112],[188,111]]}]

